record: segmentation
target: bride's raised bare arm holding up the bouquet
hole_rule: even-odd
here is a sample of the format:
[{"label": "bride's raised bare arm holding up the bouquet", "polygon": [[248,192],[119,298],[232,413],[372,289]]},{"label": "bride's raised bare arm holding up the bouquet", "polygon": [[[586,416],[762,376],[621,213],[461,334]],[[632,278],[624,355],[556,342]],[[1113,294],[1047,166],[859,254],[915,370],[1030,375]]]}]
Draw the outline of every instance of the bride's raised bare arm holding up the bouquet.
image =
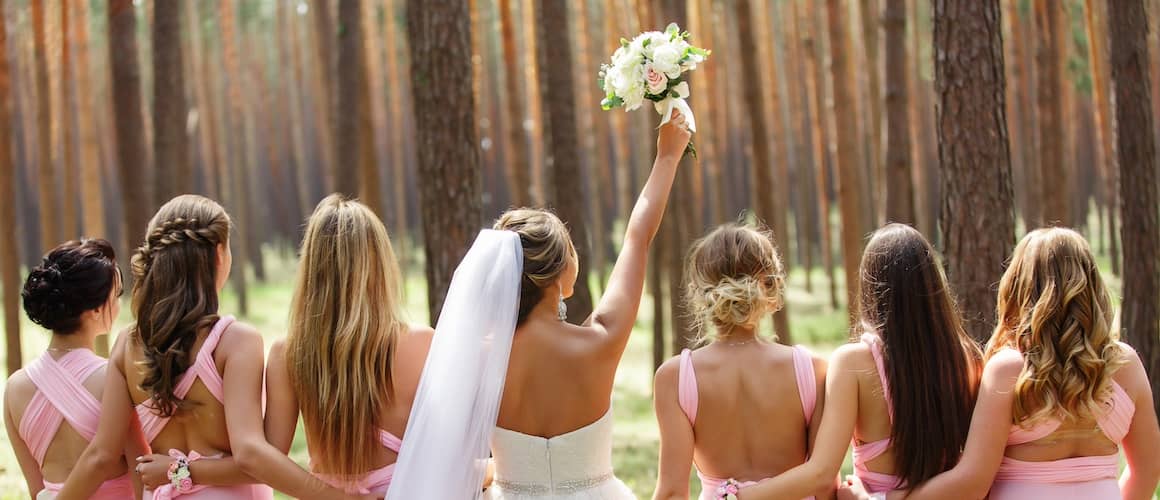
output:
[{"label": "bride's raised bare arm holding up the bouquet", "polygon": [[624,230],[624,244],[612,267],[608,288],[593,312],[593,326],[603,331],[609,349],[617,357],[624,353],[629,342],[629,334],[640,307],[640,295],[644,292],[648,246],[660,227],[676,167],[684,154],[684,146],[689,144],[690,135],[684,126],[684,117],[674,111],[674,118],[660,128],[657,160],[653,161],[648,180],[632,208]]}]

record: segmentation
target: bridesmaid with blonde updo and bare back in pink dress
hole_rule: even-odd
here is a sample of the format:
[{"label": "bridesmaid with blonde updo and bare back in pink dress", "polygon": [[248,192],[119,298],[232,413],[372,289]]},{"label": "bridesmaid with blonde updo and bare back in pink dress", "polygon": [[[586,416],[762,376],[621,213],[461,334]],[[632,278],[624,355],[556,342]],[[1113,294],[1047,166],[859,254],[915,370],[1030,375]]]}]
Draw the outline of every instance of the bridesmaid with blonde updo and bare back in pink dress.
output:
[{"label": "bridesmaid with blonde updo and bare back in pink dress", "polygon": [[[763,339],[759,324],[782,309],[785,273],[768,232],[725,225],[694,244],[687,303],[701,343],[657,370],[660,474],[654,499],[701,499],[800,465],[821,420],[826,362],[804,347]],[[770,425],[770,422],[777,422]],[[829,498],[834,483],[819,488]]]}]

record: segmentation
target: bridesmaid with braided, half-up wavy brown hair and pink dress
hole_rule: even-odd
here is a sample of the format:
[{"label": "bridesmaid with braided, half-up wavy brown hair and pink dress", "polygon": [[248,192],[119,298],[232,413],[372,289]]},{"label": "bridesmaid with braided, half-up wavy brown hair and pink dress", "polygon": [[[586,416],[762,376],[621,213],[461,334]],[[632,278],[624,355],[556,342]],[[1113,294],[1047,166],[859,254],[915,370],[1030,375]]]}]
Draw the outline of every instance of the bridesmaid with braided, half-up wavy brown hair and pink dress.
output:
[{"label": "bridesmaid with braided, half-up wavy brown hair and pink dress", "polygon": [[[218,313],[230,230],[225,210],[195,195],[171,200],[150,220],[132,261],[137,323],[117,338],[96,436],[59,499],[88,498],[95,472],[119,461],[130,439],[168,454],[139,459],[145,498],[271,498],[261,483],[300,498],[348,498],[264,439],[261,334]],[[169,478],[173,457],[189,466]]]}]

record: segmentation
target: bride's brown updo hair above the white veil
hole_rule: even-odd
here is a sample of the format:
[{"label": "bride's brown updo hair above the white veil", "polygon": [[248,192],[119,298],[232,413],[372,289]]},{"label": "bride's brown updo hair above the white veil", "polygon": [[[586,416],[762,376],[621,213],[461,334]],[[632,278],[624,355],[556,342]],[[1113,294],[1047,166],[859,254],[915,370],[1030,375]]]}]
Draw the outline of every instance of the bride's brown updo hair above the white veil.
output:
[{"label": "bride's brown updo hair above the white veil", "polygon": [[523,278],[520,281],[520,316],[523,325],[536,304],[544,298],[544,289],[560,277],[568,259],[577,259],[575,247],[567,226],[556,213],[537,209],[515,209],[505,212],[492,227],[513,231],[523,247]]}]

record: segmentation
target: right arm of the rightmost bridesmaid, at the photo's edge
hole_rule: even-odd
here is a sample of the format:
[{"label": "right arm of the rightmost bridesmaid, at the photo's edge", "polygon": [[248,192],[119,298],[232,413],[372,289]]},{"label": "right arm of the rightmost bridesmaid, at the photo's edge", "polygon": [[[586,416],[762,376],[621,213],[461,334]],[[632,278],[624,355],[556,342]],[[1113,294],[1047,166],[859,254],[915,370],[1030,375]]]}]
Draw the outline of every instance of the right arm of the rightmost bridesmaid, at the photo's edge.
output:
[{"label": "right arm of the rightmost bridesmaid, at the photo's edge", "polygon": [[1128,352],[1129,363],[1117,374],[1121,385],[1129,391],[1136,403],[1136,414],[1131,427],[1124,436],[1124,457],[1128,466],[1119,477],[1119,491],[1124,500],[1151,499],[1160,480],[1160,427],[1157,425],[1157,411],[1152,406],[1152,387],[1140,357],[1131,347],[1123,345]]}]

